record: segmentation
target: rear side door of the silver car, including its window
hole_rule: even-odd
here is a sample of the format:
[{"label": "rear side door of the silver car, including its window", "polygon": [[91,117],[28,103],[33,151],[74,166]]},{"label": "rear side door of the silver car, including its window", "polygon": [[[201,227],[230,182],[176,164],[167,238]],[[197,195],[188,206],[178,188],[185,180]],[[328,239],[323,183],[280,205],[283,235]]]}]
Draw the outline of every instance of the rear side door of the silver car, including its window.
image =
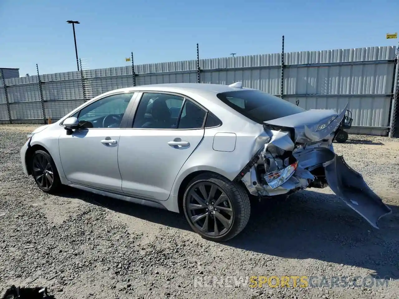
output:
[{"label": "rear side door of the silver car, including its window", "polygon": [[121,130],[119,141],[122,191],[164,201],[203,138],[206,111],[182,95],[166,92],[144,92],[134,106],[131,128]]}]

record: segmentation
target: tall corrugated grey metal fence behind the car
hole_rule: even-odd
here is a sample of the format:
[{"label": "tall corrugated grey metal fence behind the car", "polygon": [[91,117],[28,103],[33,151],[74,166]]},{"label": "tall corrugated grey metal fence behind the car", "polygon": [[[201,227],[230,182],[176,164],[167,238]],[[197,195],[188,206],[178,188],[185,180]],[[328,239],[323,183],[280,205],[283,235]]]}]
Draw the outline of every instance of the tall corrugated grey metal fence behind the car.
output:
[{"label": "tall corrugated grey metal fence behind the car", "polygon": [[[200,82],[231,84],[281,96],[299,106],[333,108],[349,102],[353,132],[387,135],[395,98],[396,47],[199,59]],[[156,83],[196,83],[196,60],[154,63],[0,81],[0,122],[57,120],[84,102],[109,90]],[[396,72],[397,73],[397,72]]]}]

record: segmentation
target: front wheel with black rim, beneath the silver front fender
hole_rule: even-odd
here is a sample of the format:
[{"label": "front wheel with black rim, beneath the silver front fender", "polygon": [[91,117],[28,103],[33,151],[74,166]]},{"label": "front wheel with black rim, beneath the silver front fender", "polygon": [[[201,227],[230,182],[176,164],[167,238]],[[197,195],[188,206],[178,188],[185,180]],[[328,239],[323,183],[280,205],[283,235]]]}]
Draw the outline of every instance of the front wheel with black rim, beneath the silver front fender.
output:
[{"label": "front wheel with black rim, beneath the silver front fender", "polygon": [[32,155],[32,176],[40,188],[45,193],[57,193],[61,187],[57,167],[51,155],[41,149]]}]

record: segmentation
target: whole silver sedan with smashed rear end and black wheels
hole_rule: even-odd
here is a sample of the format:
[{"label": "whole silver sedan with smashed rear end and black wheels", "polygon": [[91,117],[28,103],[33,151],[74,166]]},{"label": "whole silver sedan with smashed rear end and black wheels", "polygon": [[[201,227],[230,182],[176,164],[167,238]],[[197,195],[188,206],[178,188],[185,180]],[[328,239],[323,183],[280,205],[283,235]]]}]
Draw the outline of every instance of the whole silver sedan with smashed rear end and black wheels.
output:
[{"label": "whole silver sedan with smashed rear end and black wheels", "polygon": [[[334,153],[346,107],[304,110],[242,83],[112,90],[28,135],[26,175],[185,214],[203,238],[239,234],[250,199],[329,186],[373,227],[391,210]],[[156,213],[156,210],[154,210]]]}]

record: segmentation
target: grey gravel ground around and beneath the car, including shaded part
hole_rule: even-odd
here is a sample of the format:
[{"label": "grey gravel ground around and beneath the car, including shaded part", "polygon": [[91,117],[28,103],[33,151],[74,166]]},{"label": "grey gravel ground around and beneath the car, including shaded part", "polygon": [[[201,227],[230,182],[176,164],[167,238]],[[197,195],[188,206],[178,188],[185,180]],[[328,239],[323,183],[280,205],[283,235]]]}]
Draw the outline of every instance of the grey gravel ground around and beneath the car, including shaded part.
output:
[{"label": "grey gravel ground around and beneath the car, including shaded part", "polygon": [[[334,144],[393,210],[380,230],[329,188],[308,189],[253,203],[245,230],[218,244],[172,212],[75,189],[39,191],[19,157],[33,128],[0,126],[0,292],[15,284],[47,286],[57,299],[399,297],[399,140],[352,135]],[[370,275],[389,285],[233,286],[231,276],[253,275]],[[213,276],[225,283],[212,287]]]}]

